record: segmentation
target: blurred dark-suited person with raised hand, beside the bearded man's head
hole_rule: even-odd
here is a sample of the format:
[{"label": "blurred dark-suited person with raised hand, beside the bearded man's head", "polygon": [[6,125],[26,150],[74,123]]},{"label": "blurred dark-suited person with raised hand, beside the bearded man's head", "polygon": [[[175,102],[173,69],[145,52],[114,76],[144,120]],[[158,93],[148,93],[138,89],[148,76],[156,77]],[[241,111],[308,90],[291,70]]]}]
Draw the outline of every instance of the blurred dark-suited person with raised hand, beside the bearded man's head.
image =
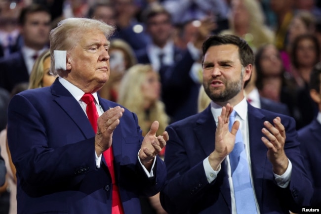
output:
[{"label": "blurred dark-suited person with raised hand, beside the bearded man's head", "polygon": [[178,121],[198,112],[198,96],[202,82],[201,44],[216,27],[210,17],[199,22],[196,34],[187,43],[182,58],[161,76],[162,101],[172,121]]}]

